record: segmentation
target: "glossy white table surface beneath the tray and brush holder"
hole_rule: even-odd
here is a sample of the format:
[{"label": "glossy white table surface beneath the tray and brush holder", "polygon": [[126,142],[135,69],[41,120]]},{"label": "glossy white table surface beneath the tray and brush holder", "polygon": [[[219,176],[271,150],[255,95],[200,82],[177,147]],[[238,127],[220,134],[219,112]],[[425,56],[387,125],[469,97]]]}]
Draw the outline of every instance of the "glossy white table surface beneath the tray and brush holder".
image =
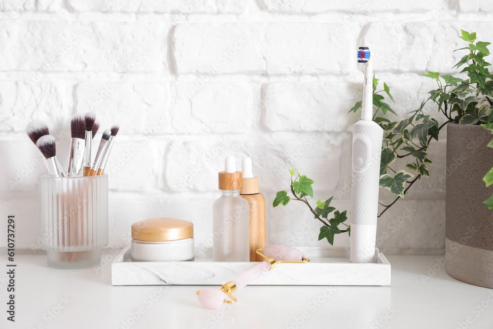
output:
[{"label": "glossy white table surface beneath the tray and brush holder", "polygon": [[16,322],[6,320],[2,261],[0,328],[493,328],[493,290],[451,278],[437,256],[387,258],[390,287],[250,286],[214,311],[198,286],[112,286],[110,264],[57,270],[46,256],[16,256]]}]

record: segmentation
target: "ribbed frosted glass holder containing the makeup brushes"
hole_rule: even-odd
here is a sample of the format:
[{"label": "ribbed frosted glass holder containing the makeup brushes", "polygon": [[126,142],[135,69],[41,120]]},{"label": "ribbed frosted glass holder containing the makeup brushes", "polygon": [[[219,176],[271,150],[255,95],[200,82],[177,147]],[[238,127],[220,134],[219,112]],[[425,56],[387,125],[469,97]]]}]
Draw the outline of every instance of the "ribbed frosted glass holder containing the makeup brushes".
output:
[{"label": "ribbed frosted glass holder containing the makeup brushes", "polygon": [[100,263],[108,245],[108,176],[39,176],[41,248],[48,266],[83,268]]}]

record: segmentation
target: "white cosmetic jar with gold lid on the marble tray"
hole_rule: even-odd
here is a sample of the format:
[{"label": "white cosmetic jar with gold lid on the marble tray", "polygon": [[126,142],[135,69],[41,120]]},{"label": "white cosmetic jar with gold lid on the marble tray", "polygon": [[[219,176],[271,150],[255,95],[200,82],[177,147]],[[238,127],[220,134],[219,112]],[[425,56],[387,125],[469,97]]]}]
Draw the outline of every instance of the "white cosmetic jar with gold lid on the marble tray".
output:
[{"label": "white cosmetic jar with gold lid on the marble tray", "polygon": [[133,223],[131,251],[134,260],[190,260],[195,254],[193,223],[176,218],[153,218]]}]

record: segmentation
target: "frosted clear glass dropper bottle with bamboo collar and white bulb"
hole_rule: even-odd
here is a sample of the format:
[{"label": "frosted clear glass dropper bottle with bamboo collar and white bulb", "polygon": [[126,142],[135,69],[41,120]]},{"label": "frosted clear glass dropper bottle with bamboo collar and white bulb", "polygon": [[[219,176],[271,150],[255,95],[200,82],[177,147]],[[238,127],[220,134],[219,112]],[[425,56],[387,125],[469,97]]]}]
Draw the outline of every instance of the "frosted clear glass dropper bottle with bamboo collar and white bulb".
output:
[{"label": "frosted clear glass dropper bottle with bamboo collar and white bulb", "polygon": [[233,156],[226,157],[218,179],[222,195],[212,204],[212,259],[249,261],[249,205],[240,196],[242,172]]}]

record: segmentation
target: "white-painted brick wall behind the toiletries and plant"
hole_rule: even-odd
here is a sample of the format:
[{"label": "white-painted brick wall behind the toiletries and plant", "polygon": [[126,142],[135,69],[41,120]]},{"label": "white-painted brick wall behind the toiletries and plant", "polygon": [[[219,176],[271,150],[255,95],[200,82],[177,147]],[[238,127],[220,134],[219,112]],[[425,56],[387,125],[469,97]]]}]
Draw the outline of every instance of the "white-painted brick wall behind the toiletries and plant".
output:
[{"label": "white-painted brick wall behind the toiletries and plant", "polygon": [[[316,199],[335,195],[334,204],[349,209],[358,115],[347,111],[361,98],[357,45],[371,44],[377,75],[402,117],[433,87],[420,73],[451,72],[461,28],[493,40],[491,3],[2,1],[2,216],[17,215],[18,248],[36,244],[36,184],[45,169],[25,126],[49,121],[65,162],[70,116],[93,110],[104,127],[121,125],[107,170],[112,245],[128,243],[136,220],[174,216],[194,221],[203,246],[228,154],[253,159],[268,202],[269,243],[326,244],[302,204],[271,205],[296,167],[316,181]],[[378,242],[387,253],[443,251],[445,141],[430,153],[432,178],[380,219]],[[391,199],[381,191],[381,200]],[[347,236],[336,243],[347,245]]]}]

